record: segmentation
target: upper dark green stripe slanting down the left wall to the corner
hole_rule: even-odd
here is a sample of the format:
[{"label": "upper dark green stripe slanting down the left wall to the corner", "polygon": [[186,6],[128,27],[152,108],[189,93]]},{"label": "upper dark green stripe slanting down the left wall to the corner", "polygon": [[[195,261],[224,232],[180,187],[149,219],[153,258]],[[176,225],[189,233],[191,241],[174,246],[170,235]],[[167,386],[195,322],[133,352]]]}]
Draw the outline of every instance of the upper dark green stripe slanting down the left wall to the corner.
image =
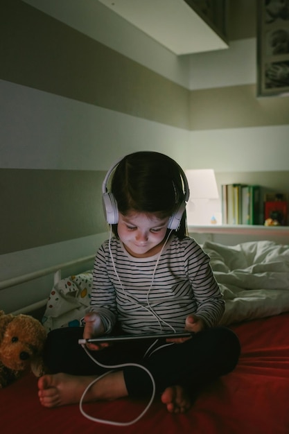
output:
[{"label": "upper dark green stripe slanting down the left wall to the corner", "polygon": [[0,78],[188,128],[189,92],[19,0],[1,0]]}]

